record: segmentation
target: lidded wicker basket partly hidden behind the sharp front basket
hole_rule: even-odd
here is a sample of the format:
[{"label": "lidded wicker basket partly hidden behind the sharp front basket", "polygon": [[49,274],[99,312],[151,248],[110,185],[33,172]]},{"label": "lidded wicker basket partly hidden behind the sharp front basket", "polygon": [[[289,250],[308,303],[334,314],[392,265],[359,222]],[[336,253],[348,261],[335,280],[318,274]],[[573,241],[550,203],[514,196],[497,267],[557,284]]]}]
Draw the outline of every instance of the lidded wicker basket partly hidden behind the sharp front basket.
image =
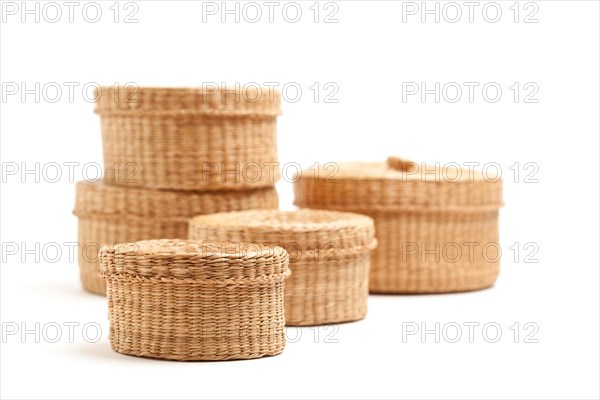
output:
[{"label": "lidded wicker basket partly hidden behind the sharp front basket", "polygon": [[240,211],[193,218],[190,239],[278,245],[293,272],[285,287],[288,325],[364,318],[369,294],[371,218],[332,211]]}]

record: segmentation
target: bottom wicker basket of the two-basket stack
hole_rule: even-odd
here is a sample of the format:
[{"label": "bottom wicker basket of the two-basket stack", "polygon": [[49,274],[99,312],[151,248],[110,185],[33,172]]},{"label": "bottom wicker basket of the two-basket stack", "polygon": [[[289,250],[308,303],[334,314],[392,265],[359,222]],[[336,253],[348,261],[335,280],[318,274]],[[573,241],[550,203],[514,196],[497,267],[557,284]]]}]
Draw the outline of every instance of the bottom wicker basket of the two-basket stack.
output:
[{"label": "bottom wicker basket of the two-basket stack", "polygon": [[189,218],[198,214],[277,208],[274,188],[228,192],[181,192],[78,182],[79,271],[84,289],[106,293],[98,276],[98,250],[112,243],[185,238]]}]

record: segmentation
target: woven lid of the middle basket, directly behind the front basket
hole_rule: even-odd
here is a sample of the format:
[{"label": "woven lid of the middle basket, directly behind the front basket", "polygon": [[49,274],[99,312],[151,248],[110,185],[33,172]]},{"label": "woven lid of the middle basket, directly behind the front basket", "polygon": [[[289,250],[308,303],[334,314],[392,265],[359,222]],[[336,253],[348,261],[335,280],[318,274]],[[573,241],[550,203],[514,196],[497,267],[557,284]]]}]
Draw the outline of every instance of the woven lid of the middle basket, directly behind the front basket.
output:
[{"label": "woven lid of the middle basket, directly behind the front basket", "polygon": [[[292,259],[315,252],[341,257],[376,246],[373,220],[337,211],[249,210],[202,215],[189,224],[190,238],[251,241],[284,247]],[[305,258],[307,259],[307,258]]]}]

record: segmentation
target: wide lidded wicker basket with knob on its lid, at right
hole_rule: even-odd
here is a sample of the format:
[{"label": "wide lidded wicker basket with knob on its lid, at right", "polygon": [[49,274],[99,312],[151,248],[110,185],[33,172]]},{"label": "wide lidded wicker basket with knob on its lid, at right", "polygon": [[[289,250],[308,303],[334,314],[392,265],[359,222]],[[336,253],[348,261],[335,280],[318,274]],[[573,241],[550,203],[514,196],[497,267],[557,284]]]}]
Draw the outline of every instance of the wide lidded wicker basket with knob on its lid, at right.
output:
[{"label": "wide lidded wicker basket with knob on its lid, at right", "polygon": [[294,184],[295,204],[360,212],[375,220],[371,292],[457,292],[493,285],[500,265],[499,177],[398,158],[337,167],[334,175],[331,168],[318,175],[302,171]]}]

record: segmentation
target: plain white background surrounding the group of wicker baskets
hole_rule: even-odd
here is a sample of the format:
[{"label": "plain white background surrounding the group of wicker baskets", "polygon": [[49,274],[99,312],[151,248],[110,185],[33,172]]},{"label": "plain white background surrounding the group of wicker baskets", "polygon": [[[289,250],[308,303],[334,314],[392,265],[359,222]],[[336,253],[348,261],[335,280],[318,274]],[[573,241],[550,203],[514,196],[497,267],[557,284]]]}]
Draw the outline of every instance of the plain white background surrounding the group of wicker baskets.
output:
[{"label": "plain white background surrounding the group of wicker baskets", "polygon": [[[137,1],[137,23],[123,23],[135,9],[125,10],[123,3],[115,23],[112,1],[99,2],[99,22],[87,22],[81,3],[70,23],[68,9],[58,4],[63,16],[57,23],[44,18],[54,18],[53,10],[46,9],[49,14],[39,23],[34,15],[22,23],[18,10],[3,14],[0,27],[1,319],[5,333],[15,325],[34,329],[36,323],[42,330],[39,343],[33,334],[3,334],[3,398],[600,396],[597,2],[537,1],[527,9],[521,3],[517,23],[513,1],[498,2],[502,16],[496,23],[483,18],[484,2],[472,23],[462,2],[456,23],[444,15],[439,23],[432,15],[423,23],[420,14],[405,14],[403,22],[403,7],[410,5],[392,1],[336,2],[337,23],[323,22],[336,10],[325,10],[324,4],[315,23],[312,1],[299,2],[303,14],[297,23],[283,18],[285,3],[275,9],[273,23],[262,2],[257,23],[243,15],[239,23],[234,16],[222,23],[219,13],[204,15],[204,22],[202,3],[192,1]],[[535,7],[538,22],[524,23]],[[493,9],[488,12],[488,19],[495,17]],[[79,84],[73,99],[65,82]],[[288,331],[291,339],[301,337],[277,357],[177,363],[114,353],[106,299],[81,289],[76,262],[64,244],[77,240],[74,183],[67,169],[56,183],[43,174],[23,176],[21,170],[6,176],[14,163],[34,168],[39,162],[43,168],[78,162],[80,179],[82,165],[101,162],[99,118],[81,91],[94,82],[295,82],[303,95],[283,104],[278,125],[282,163],[384,160],[390,154],[427,162],[498,163],[506,202],[500,278],[494,288],[468,294],[371,296],[367,318],[338,326],[330,338],[337,343],[325,339],[333,330]],[[315,82],[322,90],[328,82],[337,85],[338,102],[323,101],[329,91],[315,102],[309,88]],[[419,96],[403,102],[403,82],[480,86],[472,103],[466,91],[457,103],[445,98],[436,103],[433,95],[425,102]],[[495,103],[481,94],[489,82],[503,90]],[[509,88],[515,82],[521,87],[517,103]],[[528,82],[539,88],[537,103],[524,102]],[[21,83],[29,89],[58,84],[64,91],[56,103],[49,101],[55,97],[50,92],[38,101],[33,94],[7,96],[7,88]],[[519,177],[509,169],[517,162]],[[537,183],[525,182],[524,174],[535,168],[525,170],[528,162],[537,166],[532,177]],[[278,188],[282,207],[291,208],[291,184],[281,182]],[[539,248],[532,256],[537,263],[525,262],[533,247],[523,246],[530,242]],[[18,245],[17,254],[5,252],[7,243]],[[37,255],[44,246],[50,252],[39,262],[36,254],[23,251],[36,243]],[[53,243],[62,250],[56,262]],[[518,255],[511,250],[515,243]],[[70,322],[80,324],[73,343],[64,326]],[[89,322],[103,330],[96,343],[82,333]],[[458,343],[445,337],[436,343],[433,335],[403,341],[407,322],[428,328],[436,322],[481,325],[473,343],[466,327]],[[488,343],[481,332],[490,322],[502,328],[497,343]],[[518,343],[510,329],[516,322]],[[537,343],[525,343],[531,332],[524,329],[527,322],[539,328],[533,336]],[[56,335],[52,323],[63,327],[57,343],[48,340]],[[87,333],[95,336],[93,329]]]}]

